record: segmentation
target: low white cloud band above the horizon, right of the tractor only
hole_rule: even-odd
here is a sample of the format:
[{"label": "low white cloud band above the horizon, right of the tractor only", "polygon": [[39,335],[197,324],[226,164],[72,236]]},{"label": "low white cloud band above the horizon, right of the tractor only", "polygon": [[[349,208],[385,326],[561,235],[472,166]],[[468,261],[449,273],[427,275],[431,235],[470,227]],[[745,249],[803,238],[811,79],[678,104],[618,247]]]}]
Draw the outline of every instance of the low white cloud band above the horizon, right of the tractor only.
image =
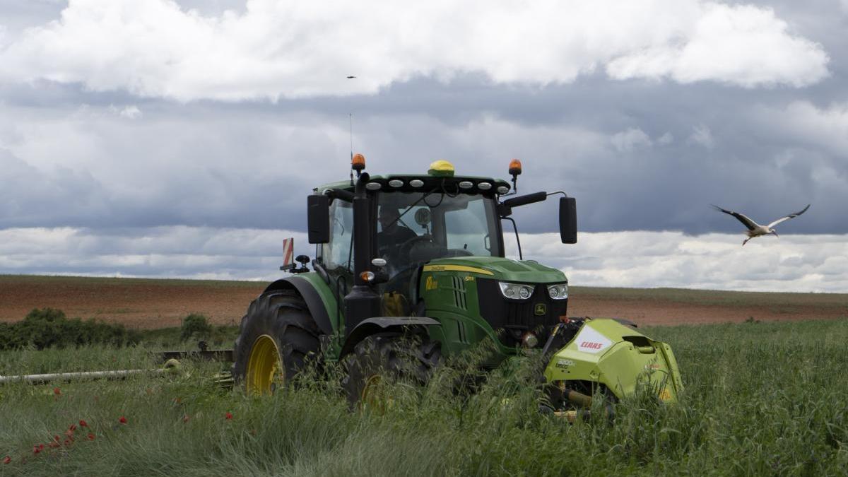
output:
[{"label": "low white cloud band above the horizon, right of the tractor only", "polygon": [[[509,239],[509,237],[505,237]],[[848,236],[680,232],[580,233],[576,245],[555,234],[522,236],[525,258],[560,267],[575,285],[683,287],[747,291],[848,289]],[[515,253],[515,248],[507,250]]]}]

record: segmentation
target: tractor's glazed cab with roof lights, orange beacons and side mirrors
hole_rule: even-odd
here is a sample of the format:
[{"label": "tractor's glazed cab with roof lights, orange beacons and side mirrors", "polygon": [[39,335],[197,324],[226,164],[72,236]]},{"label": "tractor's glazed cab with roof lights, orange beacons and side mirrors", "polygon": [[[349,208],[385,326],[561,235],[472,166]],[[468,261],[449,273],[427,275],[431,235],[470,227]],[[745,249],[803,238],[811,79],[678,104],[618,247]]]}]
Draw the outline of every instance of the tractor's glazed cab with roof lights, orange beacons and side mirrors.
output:
[{"label": "tractor's glazed cab with roof lights, orange beacons and side mirrors", "polygon": [[[332,283],[341,283],[339,298],[353,300],[343,309],[349,330],[371,317],[427,316],[433,308],[421,283],[427,264],[475,257],[505,262],[501,219],[549,195],[509,197],[521,173],[517,160],[510,164],[511,187],[502,179],[456,176],[445,160],[432,163],[426,175],[369,176],[361,172],[364,158],[360,165],[357,181],[327,184],[310,196],[310,243],[321,244],[316,262]],[[560,215],[563,242],[573,243],[572,198],[562,198]],[[550,280],[564,280],[550,272]]]}]

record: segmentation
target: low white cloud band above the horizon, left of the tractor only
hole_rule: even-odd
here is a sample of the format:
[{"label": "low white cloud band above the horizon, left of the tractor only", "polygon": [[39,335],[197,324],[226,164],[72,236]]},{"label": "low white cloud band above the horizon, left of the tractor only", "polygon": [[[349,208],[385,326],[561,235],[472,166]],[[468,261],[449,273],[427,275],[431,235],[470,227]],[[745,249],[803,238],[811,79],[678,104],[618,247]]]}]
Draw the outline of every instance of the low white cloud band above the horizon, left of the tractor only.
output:
[{"label": "low white cloud band above the horizon, left of the tractor only", "polygon": [[306,234],[286,230],[149,227],[0,229],[0,273],[271,280],[282,239],[315,255]]}]

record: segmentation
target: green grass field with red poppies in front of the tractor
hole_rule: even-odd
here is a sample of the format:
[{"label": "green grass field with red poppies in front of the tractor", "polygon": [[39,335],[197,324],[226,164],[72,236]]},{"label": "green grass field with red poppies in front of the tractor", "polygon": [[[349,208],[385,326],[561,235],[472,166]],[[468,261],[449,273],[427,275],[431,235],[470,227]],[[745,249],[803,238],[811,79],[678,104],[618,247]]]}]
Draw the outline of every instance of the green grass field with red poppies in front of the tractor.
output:
[{"label": "green grass field with red poppies in front of the tractor", "polygon": [[[514,373],[491,373],[465,398],[448,384],[459,364],[443,368],[424,389],[398,384],[382,412],[350,412],[332,370],[328,378],[265,398],[216,388],[211,378],[222,365],[215,362],[184,362],[165,377],[0,385],[0,474],[833,475],[848,469],[848,321],[647,332],[672,345],[686,385],[682,401],[662,406],[637,396],[616,405],[612,423],[598,417],[567,424],[539,414],[528,359]],[[0,353],[5,375],[156,366],[143,347]],[[54,436],[59,442],[50,446]],[[10,462],[2,463],[7,456]]]}]

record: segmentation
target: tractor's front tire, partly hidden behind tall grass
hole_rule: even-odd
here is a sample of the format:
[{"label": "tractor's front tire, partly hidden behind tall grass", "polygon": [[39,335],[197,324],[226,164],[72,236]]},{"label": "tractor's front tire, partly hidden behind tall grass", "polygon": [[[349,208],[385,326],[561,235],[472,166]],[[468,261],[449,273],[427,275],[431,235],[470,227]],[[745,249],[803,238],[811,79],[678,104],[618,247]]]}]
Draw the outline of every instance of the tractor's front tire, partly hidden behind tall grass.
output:
[{"label": "tractor's front tire, partly hidden behind tall grass", "polygon": [[441,344],[428,340],[426,334],[382,333],[368,336],[343,359],[347,375],[342,380],[342,387],[348,404],[352,410],[365,406],[381,407],[382,404],[375,402],[380,399],[380,396],[375,398],[375,387],[399,380],[427,384],[433,368],[441,360]]}]

